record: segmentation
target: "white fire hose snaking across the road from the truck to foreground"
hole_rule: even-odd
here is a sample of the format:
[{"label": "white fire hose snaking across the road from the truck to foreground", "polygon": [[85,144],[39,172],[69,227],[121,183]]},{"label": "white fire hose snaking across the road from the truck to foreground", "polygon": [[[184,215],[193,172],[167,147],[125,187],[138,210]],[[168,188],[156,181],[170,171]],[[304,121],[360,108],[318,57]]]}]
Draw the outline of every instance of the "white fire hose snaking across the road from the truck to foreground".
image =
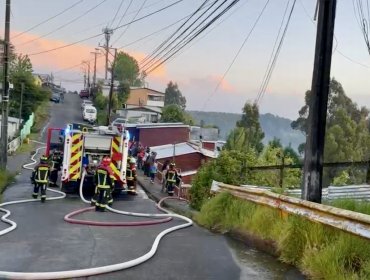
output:
[{"label": "white fire hose snaking across the road from the truck to foreground", "polygon": [[[36,163],[36,160],[34,157],[38,153],[39,150],[43,149],[44,147],[38,148],[36,150],[36,153],[32,156],[32,163],[24,165],[24,168],[26,169],[32,169],[29,166]],[[84,174],[83,174],[84,176]],[[82,178],[83,179],[83,178]],[[81,180],[83,182],[83,180]],[[55,199],[62,199],[66,196],[65,193],[57,191],[57,190],[51,190],[55,193],[62,194],[60,197],[52,197],[48,198],[47,200],[55,200]],[[83,202],[90,203],[90,201],[86,200],[82,194],[82,184],[80,185],[80,196]],[[112,265],[106,265],[106,266],[99,266],[99,267],[93,267],[93,268],[85,268],[85,269],[77,269],[77,270],[67,270],[67,271],[55,271],[55,272],[10,272],[10,271],[0,271],[0,278],[1,279],[64,279],[64,278],[73,278],[73,277],[87,277],[87,276],[93,276],[98,274],[104,274],[104,273],[110,273],[114,271],[119,271],[123,269],[127,269],[136,265],[139,265],[147,260],[149,260],[151,257],[154,256],[154,254],[157,252],[158,245],[160,240],[166,235],[173,231],[189,227],[193,224],[193,221],[185,216],[178,215],[178,214],[172,214],[168,210],[161,207],[161,204],[166,199],[176,199],[174,197],[165,197],[161,199],[157,207],[161,211],[165,212],[166,214],[147,214],[147,213],[134,213],[134,212],[126,212],[117,210],[111,207],[107,207],[107,209],[113,213],[121,214],[121,215],[130,215],[130,216],[136,216],[136,217],[151,217],[151,218],[178,218],[186,221],[186,223],[173,226],[171,228],[165,229],[162,232],[160,232],[157,237],[154,239],[153,245],[151,249],[144,255],[122,263],[112,264]],[[180,199],[182,200],[182,199]],[[35,199],[26,199],[26,200],[18,200],[18,201],[11,201],[6,202],[3,204],[0,204],[1,206],[10,205],[10,204],[17,204],[17,203],[24,203],[24,202],[32,202],[37,201]],[[91,208],[91,207],[89,207]],[[17,224],[11,220],[6,219],[10,215],[10,211],[0,208],[0,211],[6,212],[6,215],[4,215],[1,220],[10,224],[12,229],[7,228],[0,232],[0,236],[4,235],[6,233],[9,233],[10,231],[14,230],[17,226]],[[75,214],[76,215],[76,214]],[[68,215],[67,215],[68,216]],[[5,220],[4,220],[5,218]]]}]

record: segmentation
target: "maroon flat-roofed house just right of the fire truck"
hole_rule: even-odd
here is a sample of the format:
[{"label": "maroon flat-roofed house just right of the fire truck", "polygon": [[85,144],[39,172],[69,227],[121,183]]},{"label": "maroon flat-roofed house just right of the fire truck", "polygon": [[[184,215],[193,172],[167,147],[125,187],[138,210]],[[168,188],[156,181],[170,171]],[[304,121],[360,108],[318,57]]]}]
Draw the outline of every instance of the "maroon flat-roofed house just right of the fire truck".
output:
[{"label": "maroon flat-roofed house just right of the fire truck", "polygon": [[158,146],[189,141],[190,127],[183,123],[127,124],[132,141],[143,146]]}]

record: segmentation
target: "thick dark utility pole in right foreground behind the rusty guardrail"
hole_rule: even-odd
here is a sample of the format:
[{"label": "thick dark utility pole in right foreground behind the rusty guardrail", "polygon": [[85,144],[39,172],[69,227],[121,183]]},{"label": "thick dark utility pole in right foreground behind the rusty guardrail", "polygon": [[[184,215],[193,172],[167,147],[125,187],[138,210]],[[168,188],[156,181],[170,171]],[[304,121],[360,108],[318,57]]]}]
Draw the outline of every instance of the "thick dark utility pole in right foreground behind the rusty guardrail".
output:
[{"label": "thick dark utility pole in right foreground behind the rusty guardrail", "polygon": [[325,126],[330,84],[336,0],[318,0],[315,63],[308,116],[302,198],[321,203]]}]

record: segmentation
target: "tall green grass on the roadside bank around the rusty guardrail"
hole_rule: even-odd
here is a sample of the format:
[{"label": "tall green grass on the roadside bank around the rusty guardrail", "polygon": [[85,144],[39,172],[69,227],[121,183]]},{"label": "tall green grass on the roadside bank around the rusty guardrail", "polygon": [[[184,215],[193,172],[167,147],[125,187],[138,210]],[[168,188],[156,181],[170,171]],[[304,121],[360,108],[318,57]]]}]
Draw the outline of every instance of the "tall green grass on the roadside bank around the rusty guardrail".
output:
[{"label": "tall green grass on the roadside bank around the rusty guardrail", "polygon": [[[338,200],[332,206],[370,213],[366,203]],[[370,279],[370,241],[300,216],[257,205],[228,193],[205,203],[196,221],[219,232],[238,231],[275,244],[281,261],[312,279]]]}]

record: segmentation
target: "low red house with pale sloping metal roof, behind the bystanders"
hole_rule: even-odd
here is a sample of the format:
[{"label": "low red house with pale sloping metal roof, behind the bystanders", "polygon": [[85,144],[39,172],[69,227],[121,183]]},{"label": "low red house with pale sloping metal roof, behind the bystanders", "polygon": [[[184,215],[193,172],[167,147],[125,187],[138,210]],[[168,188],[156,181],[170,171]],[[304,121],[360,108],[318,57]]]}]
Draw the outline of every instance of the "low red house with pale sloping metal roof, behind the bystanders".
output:
[{"label": "low red house with pale sloping metal roof, behind the bystanders", "polygon": [[151,151],[157,153],[159,170],[166,161],[175,162],[184,184],[190,184],[198,169],[205,162],[216,157],[213,153],[189,142],[154,146],[151,147]]}]

